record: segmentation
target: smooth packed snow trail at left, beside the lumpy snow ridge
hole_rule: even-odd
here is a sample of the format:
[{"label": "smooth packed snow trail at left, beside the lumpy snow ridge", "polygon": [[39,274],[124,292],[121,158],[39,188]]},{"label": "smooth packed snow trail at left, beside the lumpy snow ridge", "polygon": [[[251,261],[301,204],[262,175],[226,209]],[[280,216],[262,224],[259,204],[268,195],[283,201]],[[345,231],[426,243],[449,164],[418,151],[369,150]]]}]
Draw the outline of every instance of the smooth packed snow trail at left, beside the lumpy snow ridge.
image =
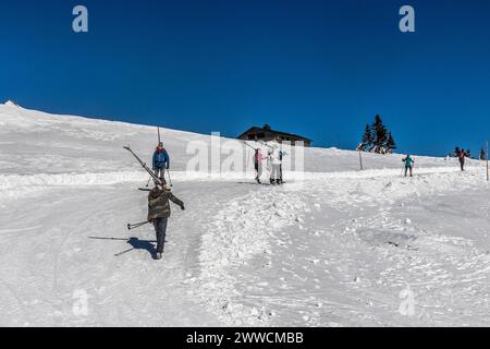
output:
[{"label": "smooth packed snow trail at left, beside the lumpy snow ridge", "polygon": [[[201,227],[233,188],[181,188],[187,209],[174,207],[158,262],[150,254],[154,228],[125,228],[147,214],[147,193],[134,183],[56,188],[11,201],[0,221],[1,325],[221,325],[184,286],[199,274]],[[88,294],[87,316],[73,313],[77,290]]]}]

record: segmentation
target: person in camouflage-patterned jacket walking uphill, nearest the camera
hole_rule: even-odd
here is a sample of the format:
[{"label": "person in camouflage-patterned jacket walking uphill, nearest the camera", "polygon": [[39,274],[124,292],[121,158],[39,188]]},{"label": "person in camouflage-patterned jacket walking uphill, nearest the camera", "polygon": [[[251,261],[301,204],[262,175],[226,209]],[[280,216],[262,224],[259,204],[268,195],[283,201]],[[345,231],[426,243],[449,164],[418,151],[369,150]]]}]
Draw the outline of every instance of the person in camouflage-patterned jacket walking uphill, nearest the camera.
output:
[{"label": "person in camouflage-patterned jacket walking uphill, nearest the camera", "polygon": [[172,194],[167,188],[166,180],[160,178],[162,185],[155,182],[155,188],[148,194],[148,221],[155,227],[157,233],[156,258],[161,260],[166,243],[167,222],[170,217],[170,202],[185,209],[184,203]]}]

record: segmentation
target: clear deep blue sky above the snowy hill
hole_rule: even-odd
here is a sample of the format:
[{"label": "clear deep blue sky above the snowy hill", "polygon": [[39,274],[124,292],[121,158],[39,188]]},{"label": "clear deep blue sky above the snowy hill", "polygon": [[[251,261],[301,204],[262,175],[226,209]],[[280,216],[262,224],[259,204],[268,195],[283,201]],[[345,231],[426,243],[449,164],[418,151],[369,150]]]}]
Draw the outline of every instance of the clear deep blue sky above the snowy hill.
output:
[{"label": "clear deep blue sky above the snowy hill", "polygon": [[33,109],[344,148],[379,113],[430,155],[490,137],[488,0],[2,1],[0,45],[0,98]]}]

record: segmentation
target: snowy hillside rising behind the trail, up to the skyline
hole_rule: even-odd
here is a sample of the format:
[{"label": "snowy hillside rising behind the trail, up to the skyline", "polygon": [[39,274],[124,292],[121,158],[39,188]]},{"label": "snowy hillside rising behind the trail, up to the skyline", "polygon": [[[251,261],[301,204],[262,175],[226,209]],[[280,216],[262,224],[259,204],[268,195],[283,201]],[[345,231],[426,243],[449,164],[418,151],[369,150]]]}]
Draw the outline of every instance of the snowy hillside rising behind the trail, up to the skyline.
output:
[{"label": "snowy hillside rising behind the trail, up to the skyline", "polygon": [[[164,120],[162,120],[164,124]],[[162,141],[172,154],[172,168],[185,170],[187,144],[192,141],[210,143],[210,135],[163,129]],[[0,144],[2,173],[85,173],[137,169],[127,161],[123,145],[147,156],[156,145],[156,128],[122,122],[53,116],[27,110],[11,103],[0,105]],[[232,140],[226,140],[232,141]],[[224,142],[224,141],[223,141]],[[244,144],[231,142],[237,148]],[[230,145],[230,143],[229,143]],[[448,166],[442,158],[417,157],[420,167]],[[367,169],[400,168],[401,157],[364,154]],[[331,172],[358,170],[357,153],[335,148],[307,148],[305,170]]]}]

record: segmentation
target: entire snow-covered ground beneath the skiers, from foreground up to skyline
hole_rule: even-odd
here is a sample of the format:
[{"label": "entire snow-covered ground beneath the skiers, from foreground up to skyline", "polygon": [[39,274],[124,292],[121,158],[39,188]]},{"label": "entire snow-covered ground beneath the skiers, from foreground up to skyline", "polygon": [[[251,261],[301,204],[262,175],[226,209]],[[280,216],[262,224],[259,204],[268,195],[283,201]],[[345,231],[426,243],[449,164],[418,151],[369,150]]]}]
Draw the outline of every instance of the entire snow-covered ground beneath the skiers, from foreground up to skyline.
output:
[{"label": "entire snow-covered ground beneath the skiers, from foreground up to skyline", "polygon": [[0,325],[490,325],[478,161],[416,156],[402,178],[400,155],[359,172],[357,153],[311,148],[306,179],[275,188],[188,176],[186,144],[208,136],[163,139],[186,210],[154,261],[151,227],[125,228],[147,178],[122,145],[149,158],[155,130],[0,106]]}]

